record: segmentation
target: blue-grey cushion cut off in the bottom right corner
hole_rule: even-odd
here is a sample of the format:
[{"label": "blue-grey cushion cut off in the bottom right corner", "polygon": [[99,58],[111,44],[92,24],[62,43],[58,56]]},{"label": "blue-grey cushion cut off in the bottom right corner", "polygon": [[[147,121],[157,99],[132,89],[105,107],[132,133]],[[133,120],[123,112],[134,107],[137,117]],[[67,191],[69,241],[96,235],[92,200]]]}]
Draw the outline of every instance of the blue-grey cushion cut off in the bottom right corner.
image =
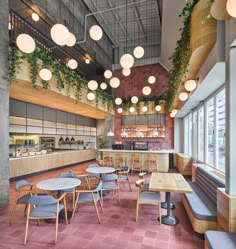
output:
[{"label": "blue-grey cushion cut off in the bottom right corner", "polygon": [[236,233],[206,231],[205,239],[209,249],[236,248]]}]

